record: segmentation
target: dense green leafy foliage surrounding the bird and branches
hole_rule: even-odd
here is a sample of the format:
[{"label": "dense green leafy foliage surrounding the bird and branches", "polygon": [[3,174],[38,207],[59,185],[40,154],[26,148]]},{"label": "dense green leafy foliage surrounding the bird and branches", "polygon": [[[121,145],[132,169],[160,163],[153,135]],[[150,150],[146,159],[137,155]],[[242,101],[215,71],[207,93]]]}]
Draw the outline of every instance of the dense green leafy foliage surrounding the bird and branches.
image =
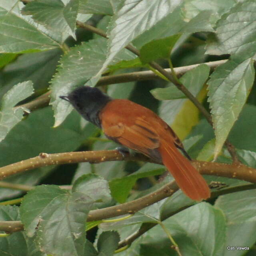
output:
[{"label": "dense green leafy foliage surrounding the bird and branches", "polygon": [[[256,168],[255,17],[254,0],[2,0],[0,166],[42,152],[116,148],[58,97],[85,82],[100,86],[102,74],[154,70],[152,61],[168,68],[227,60],[214,70],[206,64],[186,70],[173,83],[152,76],[117,83],[114,76],[101,88],[113,98],[129,98],[157,112],[193,159],[231,164],[223,147],[228,138],[239,161]],[[109,39],[82,22],[105,31]],[[140,58],[132,48],[124,49],[130,43],[140,50]],[[214,130],[176,88],[179,83],[211,113]],[[237,171],[234,165],[234,176]],[[255,255],[255,189],[245,190],[246,181],[210,175],[205,176],[209,183],[221,182],[235,192],[216,189],[208,202],[197,203],[178,191],[128,219],[90,222],[86,234],[90,210],[122,207],[156,191],[172,180],[167,176],[157,182],[163,172],[163,166],[142,161],[80,162],[5,178],[9,184],[0,184],[5,204],[0,220],[22,220],[26,231],[1,237],[1,255],[112,255],[118,242],[142,228],[147,232],[119,255],[177,255],[170,234],[182,255]],[[26,187],[17,189],[20,184]],[[40,184],[48,185],[36,186]],[[70,184],[71,190],[57,186]],[[21,206],[19,199],[12,201],[23,196]],[[227,246],[248,246],[250,251]]]}]

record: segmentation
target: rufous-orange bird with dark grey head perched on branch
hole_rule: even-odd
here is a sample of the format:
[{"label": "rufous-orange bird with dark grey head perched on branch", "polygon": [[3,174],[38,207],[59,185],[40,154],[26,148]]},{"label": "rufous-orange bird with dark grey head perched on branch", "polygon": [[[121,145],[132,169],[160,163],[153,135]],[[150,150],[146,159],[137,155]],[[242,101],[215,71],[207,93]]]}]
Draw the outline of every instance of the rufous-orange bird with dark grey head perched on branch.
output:
[{"label": "rufous-orange bird with dark grey head perched on branch", "polygon": [[149,108],[127,99],[112,99],[90,86],[80,86],[60,98],[102,129],[108,139],[164,164],[179,188],[192,200],[210,197],[208,184],[192,166],[178,136]]}]

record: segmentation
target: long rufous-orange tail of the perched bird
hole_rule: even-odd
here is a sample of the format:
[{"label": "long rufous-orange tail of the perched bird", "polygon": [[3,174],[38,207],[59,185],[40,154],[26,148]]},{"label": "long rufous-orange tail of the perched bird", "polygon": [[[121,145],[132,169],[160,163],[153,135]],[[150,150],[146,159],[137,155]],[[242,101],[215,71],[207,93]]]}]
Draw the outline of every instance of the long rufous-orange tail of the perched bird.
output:
[{"label": "long rufous-orange tail of the perched bird", "polygon": [[210,189],[202,175],[176,148],[173,142],[162,140],[159,152],[162,162],[176,180],[180,189],[192,200],[201,201],[210,197]]}]

